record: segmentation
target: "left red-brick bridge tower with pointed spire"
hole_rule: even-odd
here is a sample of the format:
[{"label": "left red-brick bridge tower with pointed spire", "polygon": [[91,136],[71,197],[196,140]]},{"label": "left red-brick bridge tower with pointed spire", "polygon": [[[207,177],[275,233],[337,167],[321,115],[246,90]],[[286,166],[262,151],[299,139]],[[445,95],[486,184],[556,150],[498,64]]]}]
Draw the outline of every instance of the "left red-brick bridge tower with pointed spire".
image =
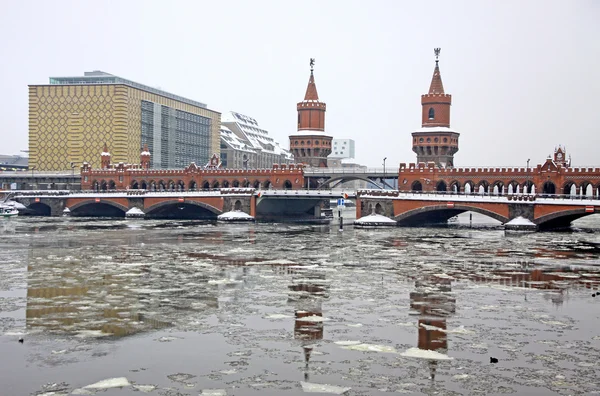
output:
[{"label": "left red-brick bridge tower with pointed spire", "polygon": [[325,110],[327,105],[319,101],[315,77],[315,60],[310,60],[310,78],[304,100],[298,109],[298,132],[290,135],[290,151],[294,161],[313,167],[327,167],[327,156],[331,154],[332,137],[325,134]]}]

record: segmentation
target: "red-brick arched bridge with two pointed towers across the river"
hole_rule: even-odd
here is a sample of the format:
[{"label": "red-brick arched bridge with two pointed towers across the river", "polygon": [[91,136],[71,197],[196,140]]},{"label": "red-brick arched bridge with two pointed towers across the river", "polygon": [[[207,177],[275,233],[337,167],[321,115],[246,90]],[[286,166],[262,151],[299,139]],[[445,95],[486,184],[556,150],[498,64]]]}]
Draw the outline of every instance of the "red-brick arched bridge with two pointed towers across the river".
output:
[{"label": "red-brick arched bridge with two pointed towers across the river", "polygon": [[[471,211],[503,224],[523,217],[537,229],[569,227],[573,220],[600,211],[600,168],[571,167],[563,147],[535,167],[529,161],[524,168],[455,167],[459,133],[450,128],[452,96],[444,92],[439,49],[435,52],[429,92],[421,95],[422,125],[412,133],[417,162],[401,163],[397,173],[327,167],[332,136],[325,133],[326,104],[319,100],[311,59],[306,94],[297,104],[298,131],[289,137],[296,164],[224,169],[215,154],[205,166],[151,169],[147,147],[140,163],[132,165],[111,163],[105,145],[100,169],[81,166],[80,190],[16,190],[5,192],[6,198],[44,216],[125,217],[137,208],[146,218],[217,219],[239,210],[259,221],[323,221],[322,209],[343,196],[355,199],[357,219],[375,213],[414,226],[445,223]],[[4,185],[23,183],[24,178],[22,172],[0,174]],[[393,179],[397,189],[388,184]],[[337,188],[353,180],[376,188]]]}]

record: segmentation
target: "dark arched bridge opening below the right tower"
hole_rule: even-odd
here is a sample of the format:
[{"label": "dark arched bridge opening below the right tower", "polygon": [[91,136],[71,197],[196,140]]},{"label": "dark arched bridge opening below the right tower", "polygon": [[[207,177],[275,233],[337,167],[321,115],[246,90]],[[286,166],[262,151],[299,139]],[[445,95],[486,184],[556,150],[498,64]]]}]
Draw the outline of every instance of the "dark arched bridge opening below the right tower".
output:
[{"label": "dark arched bridge opening below the right tower", "polygon": [[400,226],[441,226],[447,225],[448,220],[452,217],[465,212],[479,213],[501,223],[506,223],[508,221],[508,218],[490,210],[467,205],[454,205],[454,207],[449,208],[445,204],[413,209],[394,217],[394,220],[396,220]]}]

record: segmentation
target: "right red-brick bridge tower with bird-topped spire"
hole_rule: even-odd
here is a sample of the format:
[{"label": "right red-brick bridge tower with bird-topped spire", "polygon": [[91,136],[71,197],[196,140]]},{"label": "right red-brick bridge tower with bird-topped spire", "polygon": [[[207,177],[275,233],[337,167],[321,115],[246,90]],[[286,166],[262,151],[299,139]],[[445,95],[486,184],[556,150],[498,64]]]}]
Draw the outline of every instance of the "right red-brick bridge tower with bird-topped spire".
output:
[{"label": "right red-brick bridge tower with bird-topped spire", "polygon": [[454,167],[460,134],[450,129],[452,95],[444,93],[439,67],[440,48],[435,48],[435,69],[429,93],[421,95],[421,129],[413,132],[413,151],[417,162],[435,162],[440,168]]}]

